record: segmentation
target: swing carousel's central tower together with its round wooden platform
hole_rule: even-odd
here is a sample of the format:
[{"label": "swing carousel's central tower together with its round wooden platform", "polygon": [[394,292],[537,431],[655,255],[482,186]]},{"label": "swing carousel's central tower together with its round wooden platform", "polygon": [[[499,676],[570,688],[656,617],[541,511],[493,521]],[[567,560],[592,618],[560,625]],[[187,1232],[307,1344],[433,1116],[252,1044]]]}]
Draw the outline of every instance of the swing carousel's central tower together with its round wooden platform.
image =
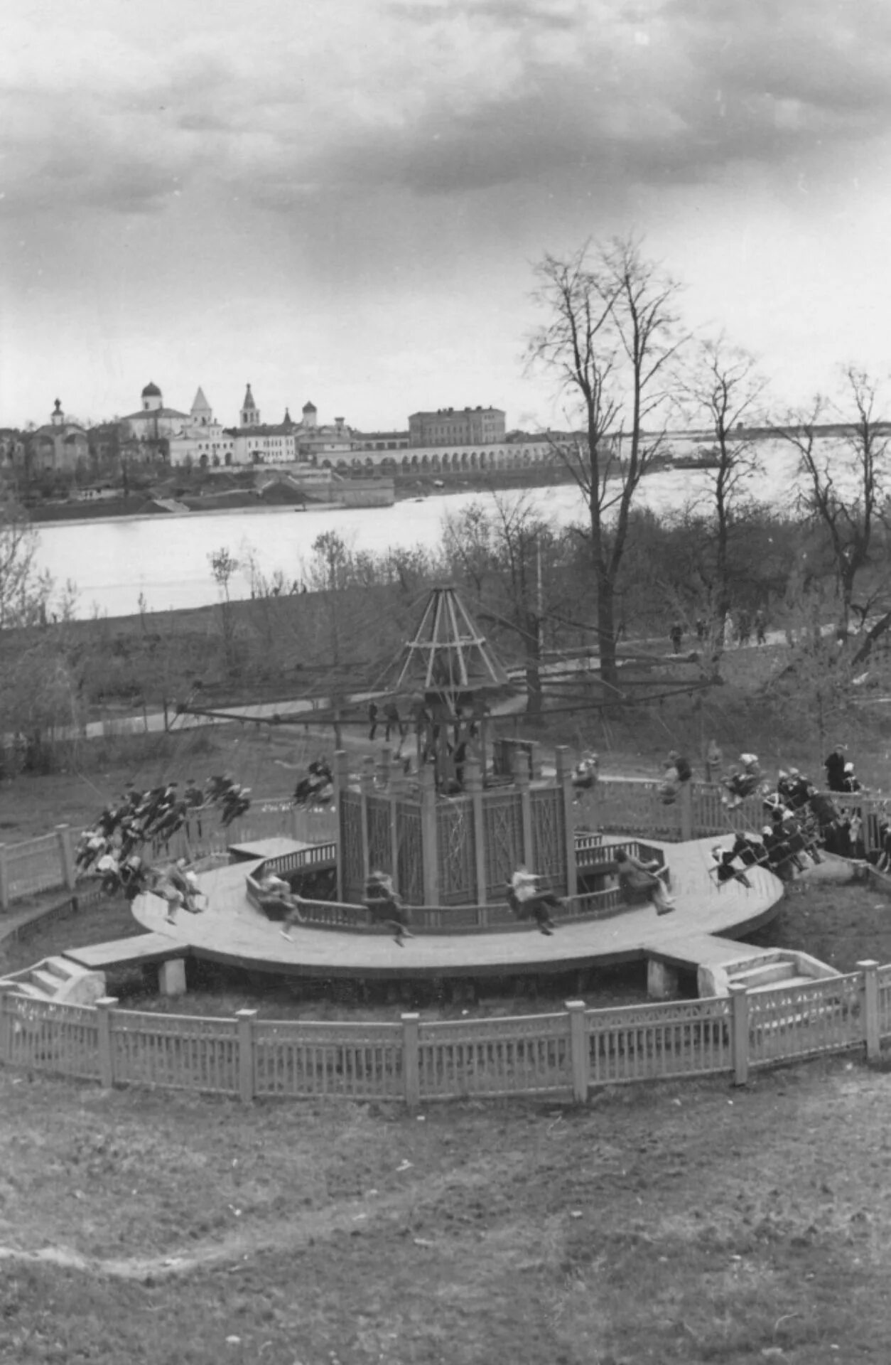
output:
[{"label": "swing carousel's central tower together with its round wooden platform", "polygon": [[[720,935],[768,919],[779,879],[759,867],[745,886],[719,887],[714,838],[579,834],[568,749],[543,775],[535,744],[495,733],[493,713],[514,691],[458,592],[434,588],[378,693],[400,717],[398,751],[366,758],[359,773],[347,751],[336,755],[336,837],[307,842],[281,820],[236,822],[225,864],[194,872],[179,898],[157,887],[135,894],[142,935],[67,956],[97,971],[158,964],[169,994],[186,988],[190,957],[357,980],[583,972],[634,958],[664,972],[752,957]],[[416,764],[403,752],[405,717]],[[670,880],[678,913],[660,919],[647,897],[629,898],[622,849]],[[518,870],[555,904],[555,932],[538,934],[540,923],[517,913],[509,890]],[[321,872],[336,900],[307,891]]]}]

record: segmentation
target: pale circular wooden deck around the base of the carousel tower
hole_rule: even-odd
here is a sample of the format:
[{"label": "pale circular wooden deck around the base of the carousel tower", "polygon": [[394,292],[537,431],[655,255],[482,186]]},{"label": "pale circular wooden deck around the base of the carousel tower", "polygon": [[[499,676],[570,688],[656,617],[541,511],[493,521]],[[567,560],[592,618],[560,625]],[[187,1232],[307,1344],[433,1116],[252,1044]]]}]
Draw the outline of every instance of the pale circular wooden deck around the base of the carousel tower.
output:
[{"label": "pale circular wooden deck around the base of the carousel tower", "polygon": [[[513,932],[428,934],[407,939],[398,947],[385,930],[351,934],[295,925],[288,940],[281,936],[280,925],[247,900],[244,878],[259,867],[257,861],[201,874],[207,908],[199,915],[180,912],[176,923],[168,924],[166,905],[156,895],[139,897],[134,915],[157,945],[153,950],[164,957],[192,956],[292,976],[517,976],[651,957],[688,968],[700,962],[720,965],[746,951],[734,936],[776,913],[783,886],[771,872],[755,868],[750,890],[737,882],[718,890],[708,875],[714,844],[715,839],[708,838],[663,845],[677,898],[674,913],[656,916],[647,905],[606,920],[562,925],[558,921],[551,938],[534,925],[518,924]],[[128,942],[139,943],[141,939],[121,940],[121,951]],[[166,945],[164,949],[161,942]],[[65,956],[86,965],[85,954],[96,951],[70,950]],[[752,949],[752,954],[756,953],[757,949]],[[162,956],[154,960],[161,961]]]}]

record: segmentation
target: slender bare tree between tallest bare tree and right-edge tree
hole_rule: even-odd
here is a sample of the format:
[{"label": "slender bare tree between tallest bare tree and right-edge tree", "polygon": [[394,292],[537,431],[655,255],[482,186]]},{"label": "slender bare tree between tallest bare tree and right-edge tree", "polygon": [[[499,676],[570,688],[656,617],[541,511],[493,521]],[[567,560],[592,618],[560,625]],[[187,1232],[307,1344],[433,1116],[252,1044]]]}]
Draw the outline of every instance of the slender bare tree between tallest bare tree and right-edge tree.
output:
[{"label": "slender bare tree between tallest bare tree and right-edge tree", "polygon": [[759,472],[757,446],[746,434],[767,381],[755,358],[731,347],[723,334],[699,343],[682,379],[684,410],[697,427],[708,427],[712,460],[704,471],[707,512],[714,516],[714,602],[719,617],[730,610],[730,539],[753,504],[752,476]]}]

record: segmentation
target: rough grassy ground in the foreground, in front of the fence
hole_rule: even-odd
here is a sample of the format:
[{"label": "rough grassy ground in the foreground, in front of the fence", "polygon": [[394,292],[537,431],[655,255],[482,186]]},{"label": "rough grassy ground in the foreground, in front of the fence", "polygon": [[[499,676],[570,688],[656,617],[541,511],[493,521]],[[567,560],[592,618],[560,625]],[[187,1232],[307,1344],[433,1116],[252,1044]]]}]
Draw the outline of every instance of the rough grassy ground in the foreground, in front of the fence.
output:
[{"label": "rough grassy ground in the foreground, in front of the fence", "polygon": [[243,1108],[0,1073],[0,1361],[887,1362],[891,1077]]}]

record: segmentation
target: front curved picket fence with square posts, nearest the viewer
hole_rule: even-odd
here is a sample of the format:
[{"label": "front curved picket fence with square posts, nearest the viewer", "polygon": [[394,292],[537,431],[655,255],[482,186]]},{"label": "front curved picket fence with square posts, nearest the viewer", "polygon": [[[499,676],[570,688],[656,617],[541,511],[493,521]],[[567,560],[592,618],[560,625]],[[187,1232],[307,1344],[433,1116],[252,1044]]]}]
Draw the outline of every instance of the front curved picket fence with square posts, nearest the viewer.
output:
[{"label": "front curved picket fence with square posts, nearest the viewer", "polygon": [[806,986],[729,996],[553,1014],[392,1024],[151,1014],[55,1005],[0,986],[0,1062],[112,1085],[229,1095],[427,1100],[468,1096],[572,1097],[634,1081],[729,1074],[865,1048],[877,1061],[891,1037],[891,965]]}]

